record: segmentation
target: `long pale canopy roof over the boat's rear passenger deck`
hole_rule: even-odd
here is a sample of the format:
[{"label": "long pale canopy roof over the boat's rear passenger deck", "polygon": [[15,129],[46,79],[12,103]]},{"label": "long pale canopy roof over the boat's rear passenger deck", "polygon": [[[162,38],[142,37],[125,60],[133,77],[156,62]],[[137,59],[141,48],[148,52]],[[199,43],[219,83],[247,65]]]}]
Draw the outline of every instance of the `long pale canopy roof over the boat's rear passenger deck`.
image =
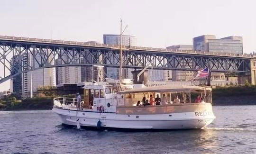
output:
[{"label": "long pale canopy roof over the boat's rear passenger deck", "polygon": [[119,91],[118,94],[124,93],[138,93],[138,92],[167,92],[167,91],[211,91],[211,88],[200,87],[200,86],[187,86],[187,85],[163,85],[163,86],[154,86],[154,87],[145,87],[127,91]]}]

